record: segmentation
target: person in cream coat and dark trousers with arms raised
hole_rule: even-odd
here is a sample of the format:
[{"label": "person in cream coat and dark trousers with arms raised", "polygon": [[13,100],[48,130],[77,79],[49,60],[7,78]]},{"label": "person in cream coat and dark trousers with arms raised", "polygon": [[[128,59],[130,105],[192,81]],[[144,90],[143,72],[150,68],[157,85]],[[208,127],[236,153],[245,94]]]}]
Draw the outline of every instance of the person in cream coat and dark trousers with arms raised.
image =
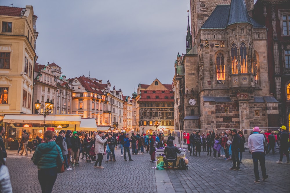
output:
[{"label": "person in cream coat and dark trousers with arms raised", "polygon": [[[103,153],[104,153],[104,143],[108,140],[108,137],[105,137],[105,139],[102,139],[104,133],[102,131],[99,131],[98,135],[96,135],[96,142],[95,142],[95,154],[98,156],[98,159],[96,160],[94,168],[104,169],[102,166],[103,161]],[[97,166],[99,163],[99,166]]]}]

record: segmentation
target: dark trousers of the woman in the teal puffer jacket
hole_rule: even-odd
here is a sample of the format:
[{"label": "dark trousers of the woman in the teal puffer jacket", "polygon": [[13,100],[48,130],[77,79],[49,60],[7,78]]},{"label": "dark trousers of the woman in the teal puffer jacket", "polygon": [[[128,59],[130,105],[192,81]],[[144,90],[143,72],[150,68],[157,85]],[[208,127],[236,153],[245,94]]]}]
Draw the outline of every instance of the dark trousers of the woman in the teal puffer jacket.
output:
[{"label": "dark trousers of the woman in the teal puffer jacket", "polygon": [[38,170],[38,181],[42,193],[52,192],[52,187],[57,179],[57,168],[47,168]]}]

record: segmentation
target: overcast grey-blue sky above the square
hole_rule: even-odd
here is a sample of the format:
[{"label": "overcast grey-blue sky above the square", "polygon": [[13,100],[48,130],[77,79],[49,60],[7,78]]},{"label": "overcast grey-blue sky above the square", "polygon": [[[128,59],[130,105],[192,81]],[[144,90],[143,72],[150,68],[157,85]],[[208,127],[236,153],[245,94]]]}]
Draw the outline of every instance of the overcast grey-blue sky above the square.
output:
[{"label": "overcast grey-blue sky above the square", "polygon": [[[172,84],[174,61],[185,53],[189,0],[3,0],[32,5],[39,35],[37,63],[56,63],[66,78],[110,81],[131,96],[156,78]],[[190,12],[189,12],[190,13]],[[190,16],[190,15],[189,15]]]}]

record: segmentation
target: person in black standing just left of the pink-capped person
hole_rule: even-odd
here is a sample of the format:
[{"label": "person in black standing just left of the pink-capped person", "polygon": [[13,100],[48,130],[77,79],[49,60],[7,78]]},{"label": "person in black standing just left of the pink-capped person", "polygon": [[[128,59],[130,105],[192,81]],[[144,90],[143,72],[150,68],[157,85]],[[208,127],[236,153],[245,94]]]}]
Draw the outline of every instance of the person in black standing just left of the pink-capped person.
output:
[{"label": "person in black standing just left of the pink-capped person", "polygon": [[232,160],[233,160],[233,167],[231,167],[231,170],[240,170],[240,159],[239,159],[239,148],[240,148],[240,141],[241,137],[237,134],[237,130],[232,130],[233,135],[233,141],[231,144],[231,150],[232,150]]}]

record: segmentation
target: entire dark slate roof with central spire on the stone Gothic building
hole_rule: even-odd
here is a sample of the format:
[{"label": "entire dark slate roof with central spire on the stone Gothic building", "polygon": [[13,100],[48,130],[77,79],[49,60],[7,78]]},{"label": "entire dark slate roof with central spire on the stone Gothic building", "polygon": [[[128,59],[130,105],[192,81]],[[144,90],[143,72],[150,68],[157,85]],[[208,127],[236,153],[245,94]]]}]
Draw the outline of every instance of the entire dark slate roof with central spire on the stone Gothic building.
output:
[{"label": "entire dark slate roof with central spire on the stone Gothic building", "polygon": [[234,23],[250,23],[254,28],[265,28],[249,17],[246,5],[242,6],[241,2],[244,4],[244,0],[232,0],[231,5],[217,5],[201,29],[225,29]]}]

